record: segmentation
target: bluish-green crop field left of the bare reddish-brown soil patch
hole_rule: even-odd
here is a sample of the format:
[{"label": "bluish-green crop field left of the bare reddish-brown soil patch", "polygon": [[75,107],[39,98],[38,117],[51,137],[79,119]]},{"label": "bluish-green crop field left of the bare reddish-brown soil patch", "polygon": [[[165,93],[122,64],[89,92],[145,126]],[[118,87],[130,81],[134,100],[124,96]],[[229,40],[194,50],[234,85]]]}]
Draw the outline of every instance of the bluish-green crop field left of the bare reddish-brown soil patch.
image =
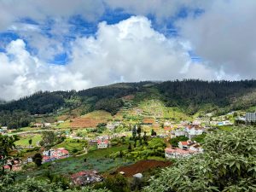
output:
[{"label": "bluish-green crop field left of the bare reddish-brown soil patch", "polygon": [[[44,172],[50,171],[53,174],[72,174],[84,170],[96,170],[98,172],[108,172],[115,167],[131,165],[132,161],[123,159],[111,159],[109,154],[119,150],[126,149],[126,145],[115,146],[112,148],[99,149],[90,151],[89,154],[84,154],[79,157],[69,157],[67,159],[55,160],[55,162],[45,163],[40,168],[29,169],[20,174],[20,179],[27,176],[42,176]],[[86,161],[84,161],[86,159]]]}]

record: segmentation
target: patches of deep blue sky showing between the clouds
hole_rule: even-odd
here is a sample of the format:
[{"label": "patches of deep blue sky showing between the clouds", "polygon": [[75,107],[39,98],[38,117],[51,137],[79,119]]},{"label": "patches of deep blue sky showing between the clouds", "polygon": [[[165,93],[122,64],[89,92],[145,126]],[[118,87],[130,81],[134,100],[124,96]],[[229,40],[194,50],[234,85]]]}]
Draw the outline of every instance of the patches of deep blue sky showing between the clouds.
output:
[{"label": "patches of deep blue sky showing between the clouds", "polygon": [[[166,19],[164,22],[157,21],[155,15],[148,14],[146,17],[148,20],[151,20],[152,27],[155,31],[161,32],[168,38],[178,37],[178,31],[176,26],[174,25],[176,20],[184,19],[188,16],[188,12],[191,12],[190,9],[180,9],[176,15],[172,15],[172,17]],[[197,13],[198,10],[193,10],[193,13]],[[86,20],[82,15],[71,15],[67,18],[68,32],[64,34],[61,38],[64,38],[64,41],[61,42],[61,46],[63,47],[63,52],[56,53],[52,55],[50,59],[46,61],[53,64],[65,65],[68,63],[68,52],[70,51],[70,43],[73,42],[78,36],[79,37],[88,37],[95,36],[97,32],[97,26],[100,22],[106,21],[108,25],[114,25],[119,23],[121,20],[127,20],[133,14],[125,13],[125,9],[105,9],[104,14],[97,18],[96,20]],[[32,20],[32,18],[20,18],[16,23],[23,25],[32,25],[40,28],[40,33],[49,39],[55,39],[57,34],[53,34],[51,32],[52,27],[55,25],[55,18],[47,18],[44,22],[39,23],[37,20]],[[5,51],[4,47],[6,44],[9,44],[11,41],[21,38],[19,35],[19,30],[7,29],[0,33],[0,51]],[[38,48],[33,47],[29,39],[26,36],[23,36],[23,40],[26,42],[26,50],[28,50],[32,55],[38,55]],[[198,58],[195,53],[191,54],[191,58]]]}]

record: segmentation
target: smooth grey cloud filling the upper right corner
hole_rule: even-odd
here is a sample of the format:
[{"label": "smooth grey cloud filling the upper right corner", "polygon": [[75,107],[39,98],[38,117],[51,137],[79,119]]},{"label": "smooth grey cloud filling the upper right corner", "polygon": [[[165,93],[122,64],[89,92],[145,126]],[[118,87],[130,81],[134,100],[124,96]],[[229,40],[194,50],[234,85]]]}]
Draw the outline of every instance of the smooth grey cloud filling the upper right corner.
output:
[{"label": "smooth grey cloud filling the upper right corner", "polygon": [[177,22],[180,34],[189,40],[208,66],[228,79],[255,78],[256,2],[212,1],[198,17]]}]

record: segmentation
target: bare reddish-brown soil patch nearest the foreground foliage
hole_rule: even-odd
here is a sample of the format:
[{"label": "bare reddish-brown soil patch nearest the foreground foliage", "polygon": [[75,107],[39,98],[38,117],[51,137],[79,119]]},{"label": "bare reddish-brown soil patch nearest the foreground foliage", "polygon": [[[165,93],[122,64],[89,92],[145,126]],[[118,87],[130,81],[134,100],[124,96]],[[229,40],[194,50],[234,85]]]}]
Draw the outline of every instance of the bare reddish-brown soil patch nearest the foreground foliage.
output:
[{"label": "bare reddish-brown soil patch nearest the foreground foliage", "polygon": [[125,172],[125,177],[132,177],[137,173],[145,172],[152,168],[171,166],[172,162],[161,160],[141,160],[131,166],[121,166],[117,172]]}]

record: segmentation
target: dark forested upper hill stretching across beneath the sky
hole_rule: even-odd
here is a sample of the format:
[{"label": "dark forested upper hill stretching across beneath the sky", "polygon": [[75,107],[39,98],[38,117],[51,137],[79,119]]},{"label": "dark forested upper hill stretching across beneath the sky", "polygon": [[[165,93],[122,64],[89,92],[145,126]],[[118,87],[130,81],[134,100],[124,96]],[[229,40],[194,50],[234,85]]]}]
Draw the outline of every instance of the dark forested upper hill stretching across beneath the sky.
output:
[{"label": "dark forested upper hill stretching across beneath the sky", "polygon": [[14,113],[20,110],[31,114],[52,113],[61,107],[87,105],[90,111],[103,109],[116,113],[123,105],[121,98],[133,95],[141,100],[143,96],[158,96],[166,106],[190,108],[193,110],[189,110],[189,113],[195,113],[205,104],[218,108],[248,108],[256,104],[255,90],[256,80],[207,82],[189,79],[120,83],[80,91],[39,91],[18,101],[0,104],[0,112]]}]

